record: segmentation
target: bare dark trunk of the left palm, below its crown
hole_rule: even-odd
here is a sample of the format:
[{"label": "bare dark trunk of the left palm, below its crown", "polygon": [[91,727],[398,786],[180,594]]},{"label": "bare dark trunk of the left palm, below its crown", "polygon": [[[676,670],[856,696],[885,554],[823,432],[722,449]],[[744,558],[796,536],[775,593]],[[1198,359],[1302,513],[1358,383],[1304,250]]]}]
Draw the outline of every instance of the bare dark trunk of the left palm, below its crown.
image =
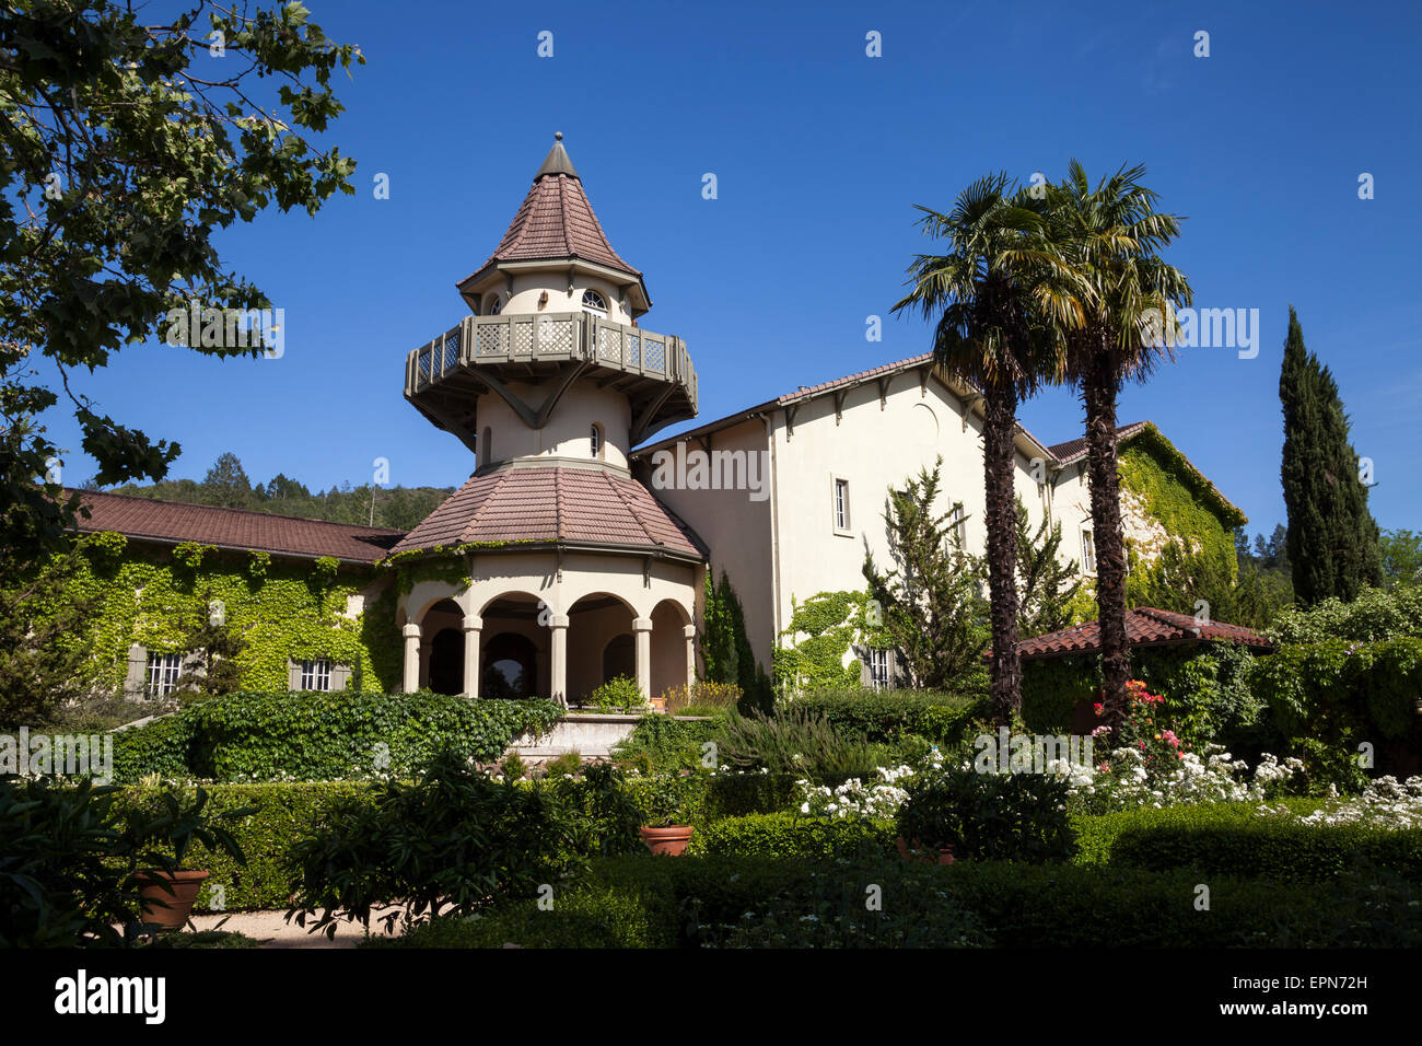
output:
[{"label": "bare dark trunk of the left palm, below its crown", "polygon": [[1015,435],[1017,391],[1010,384],[990,387],[984,398],[983,480],[993,625],[993,719],[998,726],[1008,726],[1022,709],[1022,659],[1017,650]]}]

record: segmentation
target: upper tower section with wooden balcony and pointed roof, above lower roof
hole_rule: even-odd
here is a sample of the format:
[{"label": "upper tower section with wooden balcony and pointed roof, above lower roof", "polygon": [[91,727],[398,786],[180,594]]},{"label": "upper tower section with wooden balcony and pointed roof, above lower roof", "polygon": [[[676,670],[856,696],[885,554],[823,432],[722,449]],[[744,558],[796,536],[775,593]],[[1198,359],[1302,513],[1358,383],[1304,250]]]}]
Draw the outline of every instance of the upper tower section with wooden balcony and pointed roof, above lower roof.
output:
[{"label": "upper tower section with wooden balcony and pointed roof, above lower roof", "polygon": [[456,285],[471,315],[410,353],[405,398],[478,455],[626,471],[647,435],[695,417],[685,343],[637,326],[641,273],[609,243],[562,134],[493,255]]}]

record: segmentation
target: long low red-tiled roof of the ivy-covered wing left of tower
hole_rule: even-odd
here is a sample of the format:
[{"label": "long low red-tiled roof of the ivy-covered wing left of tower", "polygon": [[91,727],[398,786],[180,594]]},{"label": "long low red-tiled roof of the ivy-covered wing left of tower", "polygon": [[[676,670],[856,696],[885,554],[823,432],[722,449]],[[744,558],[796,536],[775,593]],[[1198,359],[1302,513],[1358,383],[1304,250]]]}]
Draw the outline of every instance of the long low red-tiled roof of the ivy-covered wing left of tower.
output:
[{"label": "long low red-tiled roof of the ivy-covered wing left of tower", "polygon": [[127,494],[84,491],[90,518],[80,517],[84,534],[114,531],[138,541],[179,544],[198,541],[218,548],[252,549],[273,555],[316,559],[334,556],[344,562],[371,564],[388,555],[404,531],[357,527],[270,515],[243,508],[185,505]]}]

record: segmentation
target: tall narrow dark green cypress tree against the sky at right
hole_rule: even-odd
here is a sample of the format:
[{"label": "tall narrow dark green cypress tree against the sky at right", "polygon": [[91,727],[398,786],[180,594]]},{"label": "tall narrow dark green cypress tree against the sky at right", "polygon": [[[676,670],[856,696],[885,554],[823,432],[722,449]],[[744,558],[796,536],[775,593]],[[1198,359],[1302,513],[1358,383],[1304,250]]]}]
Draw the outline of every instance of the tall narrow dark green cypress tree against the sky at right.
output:
[{"label": "tall narrow dark green cypress tree against the sky at right", "polygon": [[1304,605],[1330,596],[1349,602],[1382,583],[1378,524],[1348,443],[1348,416],[1328,367],[1304,347],[1288,307],[1288,337],[1278,376],[1284,408],[1284,507],[1294,593]]}]

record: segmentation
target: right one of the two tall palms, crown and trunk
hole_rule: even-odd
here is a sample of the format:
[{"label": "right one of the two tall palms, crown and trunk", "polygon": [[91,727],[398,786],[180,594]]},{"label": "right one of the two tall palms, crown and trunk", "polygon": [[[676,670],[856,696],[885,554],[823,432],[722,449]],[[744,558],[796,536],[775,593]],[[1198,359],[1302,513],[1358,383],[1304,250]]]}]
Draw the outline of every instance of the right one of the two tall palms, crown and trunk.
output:
[{"label": "right one of the two tall palms, crown and trunk", "polygon": [[1068,376],[1086,410],[1086,477],[1096,546],[1105,717],[1126,714],[1130,650],[1126,642],[1126,555],[1116,472],[1116,400],[1128,380],[1143,381],[1175,360],[1175,306],[1190,303],[1185,276],[1159,258],[1180,226],[1158,213],[1156,194],[1140,184],[1143,165],[1122,167],[1092,189],[1071,161],[1047,196],[1051,249],[1082,279],[1082,323],[1065,330]]}]

